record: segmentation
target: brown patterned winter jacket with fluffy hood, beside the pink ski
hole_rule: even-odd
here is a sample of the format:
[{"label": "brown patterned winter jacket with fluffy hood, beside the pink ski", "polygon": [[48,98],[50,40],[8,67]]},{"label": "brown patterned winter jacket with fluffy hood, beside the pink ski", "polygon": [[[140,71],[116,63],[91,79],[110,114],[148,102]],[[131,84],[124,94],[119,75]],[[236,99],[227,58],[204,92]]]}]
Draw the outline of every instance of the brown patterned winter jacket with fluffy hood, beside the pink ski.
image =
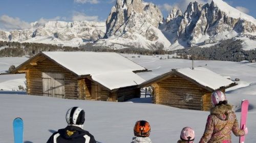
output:
[{"label": "brown patterned winter jacket with fluffy hood, beside the pink ski", "polygon": [[229,104],[215,106],[210,110],[205,131],[199,143],[231,143],[231,131],[236,136],[245,134],[239,128],[232,106]]}]

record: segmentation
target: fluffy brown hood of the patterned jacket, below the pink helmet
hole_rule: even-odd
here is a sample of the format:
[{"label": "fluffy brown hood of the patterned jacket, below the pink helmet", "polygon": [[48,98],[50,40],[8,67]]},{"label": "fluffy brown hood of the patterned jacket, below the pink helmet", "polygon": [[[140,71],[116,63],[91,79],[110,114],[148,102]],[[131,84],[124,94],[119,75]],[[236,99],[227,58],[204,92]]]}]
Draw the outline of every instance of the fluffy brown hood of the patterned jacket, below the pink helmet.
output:
[{"label": "fluffy brown hood of the patterned jacket, below the pink helmet", "polygon": [[221,104],[210,109],[212,115],[217,116],[220,120],[227,120],[230,112],[233,111],[233,106],[230,104]]}]

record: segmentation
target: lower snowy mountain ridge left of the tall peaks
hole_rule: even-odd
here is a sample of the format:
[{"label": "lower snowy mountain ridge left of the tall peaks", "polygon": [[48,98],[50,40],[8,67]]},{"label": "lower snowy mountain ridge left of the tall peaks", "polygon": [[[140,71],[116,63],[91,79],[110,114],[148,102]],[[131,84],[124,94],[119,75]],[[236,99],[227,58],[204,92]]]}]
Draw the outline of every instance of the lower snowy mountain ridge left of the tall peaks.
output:
[{"label": "lower snowy mountain ridge left of the tall peaks", "polygon": [[36,42],[78,46],[83,42],[95,41],[105,35],[104,22],[92,21],[49,21],[45,24],[31,23],[31,28],[1,32],[0,39],[6,41]]}]

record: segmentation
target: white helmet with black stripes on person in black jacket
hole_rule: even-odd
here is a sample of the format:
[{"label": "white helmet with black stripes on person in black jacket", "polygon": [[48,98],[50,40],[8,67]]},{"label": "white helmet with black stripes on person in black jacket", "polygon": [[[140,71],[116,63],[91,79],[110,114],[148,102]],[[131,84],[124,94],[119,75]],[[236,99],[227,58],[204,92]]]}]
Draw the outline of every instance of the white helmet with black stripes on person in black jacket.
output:
[{"label": "white helmet with black stripes on person in black jacket", "polygon": [[66,121],[69,125],[82,125],[85,112],[80,107],[72,107],[66,113]]}]

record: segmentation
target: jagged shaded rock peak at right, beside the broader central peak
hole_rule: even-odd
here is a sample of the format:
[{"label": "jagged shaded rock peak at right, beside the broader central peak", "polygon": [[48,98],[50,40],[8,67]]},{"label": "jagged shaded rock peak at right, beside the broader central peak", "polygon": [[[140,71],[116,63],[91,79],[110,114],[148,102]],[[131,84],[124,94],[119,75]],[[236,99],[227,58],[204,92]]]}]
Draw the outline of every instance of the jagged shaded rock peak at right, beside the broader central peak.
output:
[{"label": "jagged shaded rock peak at right, beside the broader central peak", "polygon": [[228,35],[231,31],[237,34],[256,32],[255,22],[232,17],[217,3],[219,0],[205,5],[190,3],[184,14],[175,8],[160,28],[170,42],[185,43],[184,46],[219,42],[225,37],[231,38]]}]

